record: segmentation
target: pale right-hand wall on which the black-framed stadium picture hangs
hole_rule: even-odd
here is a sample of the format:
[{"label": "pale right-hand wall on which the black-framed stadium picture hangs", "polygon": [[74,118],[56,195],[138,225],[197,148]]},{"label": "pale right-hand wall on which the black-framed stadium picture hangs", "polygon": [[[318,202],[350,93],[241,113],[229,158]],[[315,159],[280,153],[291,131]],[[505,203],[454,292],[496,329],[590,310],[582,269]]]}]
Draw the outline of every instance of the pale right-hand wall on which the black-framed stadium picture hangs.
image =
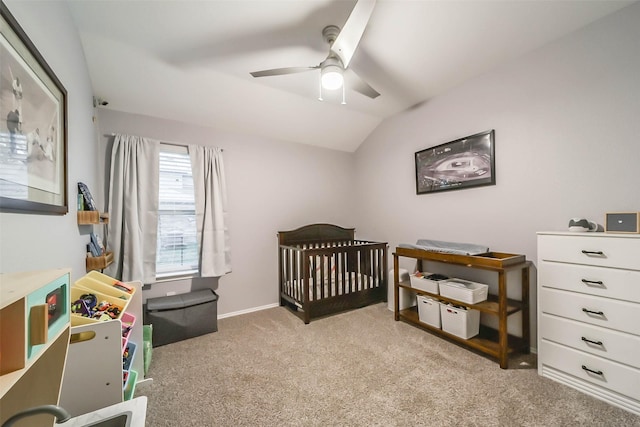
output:
[{"label": "pale right-hand wall on which the black-framed stadium picture hangs", "polygon": [[[356,153],[358,229],[535,262],[536,231],[639,211],[639,22],[636,3],[384,122]],[[416,195],[416,151],[488,129],[497,185]]]}]

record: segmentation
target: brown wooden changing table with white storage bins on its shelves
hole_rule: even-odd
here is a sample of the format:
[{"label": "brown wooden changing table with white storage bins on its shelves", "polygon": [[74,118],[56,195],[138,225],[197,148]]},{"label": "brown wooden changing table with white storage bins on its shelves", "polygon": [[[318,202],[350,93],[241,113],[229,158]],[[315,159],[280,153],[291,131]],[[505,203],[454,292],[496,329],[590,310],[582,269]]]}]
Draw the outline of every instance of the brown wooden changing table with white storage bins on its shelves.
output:
[{"label": "brown wooden changing table with white storage bins on its shelves", "polygon": [[[414,287],[410,282],[400,281],[398,272],[400,270],[399,258],[401,257],[415,259],[418,271],[424,271],[424,262],[433,262],[436,266],[449,264],[465,269],[495,272],[498,275],[497,295],[484,293],[485,289],[483,287],[486,285],[460,279],[453,279],[453,283],[456,285],[453,287],[454,294],[448,294],[447,291],[443,293],[442,289],[439,289],[440,292],[438,293],[437,290],[426,291],[424,290],[425,288]],[[495,357],[500,362],[502,369],[508,367],[509,354],[515,351],[529,352],[529,268],[531,263],[525,259],[524,255],[501,252],[463,255],[434,252],[419,249],[414,245],[403,245],[396,248],[393,254],[393,265],[395,320],[404,320],[456,343]],[[521,301],[507,297],[507,275],[509,273],[520,274]],[[469,275],[473,275],[473,271],[470,271]],[[451,282],[451,279],[449,279],[449,282]],[[445,283],[447,283],[447,280],[439,282],[438,285],[444,285]],[[466,283],[469,286],[466,286]],[[422,306],[419,307],[420,310],[416,310],[416,307],[401,310],[400,290],[428,297],[432,301],[439,301],[441,304],[442,329],[437,321],[432,320],[431,314],[435,315],[435,309],[432,309],[431,313],[424,312],[425,307]],[[480,290],[479,295],[477,294],[478,290]],[[455,291],[458,291],[458,293]],[[458,297],[459,299],[454,299],[446,295],[460,296]],[[422,303],[422,301],[420,302]],[[522,313],[522,336],[516,337],[509,335],[507,322],[509,316],[519,312]],[[485,325],[479,325],[481,313],[497,318],[497,331]]]}]

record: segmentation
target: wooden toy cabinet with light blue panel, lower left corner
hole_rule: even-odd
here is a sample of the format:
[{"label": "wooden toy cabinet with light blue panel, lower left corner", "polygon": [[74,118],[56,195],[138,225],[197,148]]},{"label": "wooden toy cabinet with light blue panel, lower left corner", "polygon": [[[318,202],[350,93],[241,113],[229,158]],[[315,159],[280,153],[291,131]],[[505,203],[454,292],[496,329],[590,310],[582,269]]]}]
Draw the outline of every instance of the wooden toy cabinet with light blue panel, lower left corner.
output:
[{"label": "wooden toy cabinet with light blue panel, lower left corner", "polygon": [[[69,345],[69,277],[69,269],[0,275],[0,423],[25,409],[59,402]],[[50,322],[52,291],[59,292],[56,302],[63,305]],[[20,425],[53,424],[53,416],[39,415]]]}]

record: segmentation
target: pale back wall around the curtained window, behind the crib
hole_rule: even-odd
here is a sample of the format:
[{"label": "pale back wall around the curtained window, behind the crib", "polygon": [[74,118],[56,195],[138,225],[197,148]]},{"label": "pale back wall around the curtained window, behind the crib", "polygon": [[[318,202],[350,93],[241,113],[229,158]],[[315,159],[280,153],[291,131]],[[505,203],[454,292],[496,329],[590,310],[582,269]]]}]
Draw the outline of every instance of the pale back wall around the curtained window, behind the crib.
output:
[{"label": "pale back wall around the curtained window, behind the crib", "polygon": [[217,284],[202,279],[157,283],[145,291],[145,298],[209,286],[220,296],[219,315],[277,304],[277,232],[315,222],[354,226],[349,153],[98,111],[101,159],[110,155],[107,149],[114,132],[224,149],[233,272]]}]

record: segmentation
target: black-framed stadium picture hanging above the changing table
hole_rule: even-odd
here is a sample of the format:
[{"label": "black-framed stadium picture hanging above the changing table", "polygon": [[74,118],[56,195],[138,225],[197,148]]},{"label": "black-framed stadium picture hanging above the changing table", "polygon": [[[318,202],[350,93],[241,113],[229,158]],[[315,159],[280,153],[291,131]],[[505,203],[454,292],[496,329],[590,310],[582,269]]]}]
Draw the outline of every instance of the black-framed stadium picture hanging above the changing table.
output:
[{"label": "black-framed stadium picture hanging above the changing table", "polygon": [[426,148],[415,161],[417,194],[495,185],[495,131]]}]

